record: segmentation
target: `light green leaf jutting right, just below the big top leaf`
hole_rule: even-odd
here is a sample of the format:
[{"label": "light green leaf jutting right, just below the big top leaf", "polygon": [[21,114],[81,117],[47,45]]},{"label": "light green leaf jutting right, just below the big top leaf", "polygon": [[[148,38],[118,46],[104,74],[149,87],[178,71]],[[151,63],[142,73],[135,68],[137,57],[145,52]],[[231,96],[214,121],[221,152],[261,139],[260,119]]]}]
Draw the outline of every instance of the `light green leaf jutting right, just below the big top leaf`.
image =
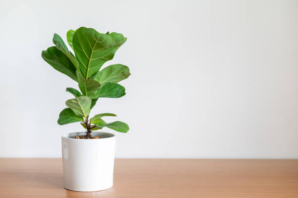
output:
[{"label": "light green leaf jutting right, just below the big top leaf", "polygon": [[121,64],[110,65],[103,70],[97,72],[93,79],[99,82],[102,86],[105,83],[117,83],[130,76],[130,69]]}]

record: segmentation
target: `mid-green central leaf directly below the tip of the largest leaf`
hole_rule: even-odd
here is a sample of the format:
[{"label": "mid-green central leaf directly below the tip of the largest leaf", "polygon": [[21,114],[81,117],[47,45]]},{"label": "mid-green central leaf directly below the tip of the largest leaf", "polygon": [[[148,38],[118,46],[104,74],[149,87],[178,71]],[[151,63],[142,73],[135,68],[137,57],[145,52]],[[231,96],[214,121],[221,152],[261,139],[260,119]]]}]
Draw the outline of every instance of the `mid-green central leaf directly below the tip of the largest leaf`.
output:
[{"label": "mid-green central leaf directly below the tip of the largest leaf", "polygon": [[76,71],[76,76],[82,94],[89,96],[91,99],[96,98],[100,84],[93,79],[85,79],[79,71]]}]

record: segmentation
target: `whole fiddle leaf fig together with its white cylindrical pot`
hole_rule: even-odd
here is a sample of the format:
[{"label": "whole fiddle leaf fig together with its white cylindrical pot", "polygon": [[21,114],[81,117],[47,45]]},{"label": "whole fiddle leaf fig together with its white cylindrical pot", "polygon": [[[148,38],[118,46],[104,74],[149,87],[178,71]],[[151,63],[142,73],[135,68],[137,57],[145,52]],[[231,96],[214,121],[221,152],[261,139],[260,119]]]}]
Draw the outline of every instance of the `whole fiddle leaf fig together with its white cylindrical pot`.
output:
[{"label": "whole fiddle leaf fig together with its white cylindrical pot", "polygon": [[[80,27],[67,32],[69,51],[62,38],[54,34],[55,46],[42,51],[42,58],[54,69],[78,83],[80,91],[66,88],[75,98],[65,102],[58,118],[59,125],[80,122],[85,132],[62,135],[64,187],[73,191],[99,191],[113,185],[115,137],[112,133],[94,132],[103,127],[126,133],[129,126],[116,121],[106,123],[102,118],[116,116],[100,113],[90,117],[90,111],[99,98],[120,98],[125,88],[118,84],[130,75],[125,65],[101,66],[111,60],[127,40],[118,33],[98,33],[92,28]],[[100,70],[100,71],[99,71]]]}]

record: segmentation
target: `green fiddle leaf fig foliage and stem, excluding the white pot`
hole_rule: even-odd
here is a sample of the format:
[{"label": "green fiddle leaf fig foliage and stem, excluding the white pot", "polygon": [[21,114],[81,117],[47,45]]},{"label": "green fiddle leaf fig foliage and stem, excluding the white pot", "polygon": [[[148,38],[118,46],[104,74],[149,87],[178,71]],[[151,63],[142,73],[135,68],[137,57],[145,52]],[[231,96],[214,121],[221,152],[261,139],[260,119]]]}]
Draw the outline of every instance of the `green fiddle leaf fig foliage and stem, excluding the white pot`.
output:
[{"label": "green fiddle leaf fig foliage and stem, excluding the white pot", "polygon": [[80,122],[86,129],[84,136],[77,137],[82,139],[92,139],[92,131],[103,127],[126,133],[130,129],[127,124],[120,121],[106,123],[102,119],[105,116],[116,116],[115,114],[100,113],[92,118],[89,118],[89,114],[99,98],[120,98],[126,94],[125,88],[118,82],[130,76],[127,66],[115,64],[100,69],[105,62],[112,60],[127,38],[122,34],[103,34],[85,27],[69,30],[66,38],[74,54],[57,34],[53,38],[55,46],[41,53],[42,58],[55,70],[78,83],[79,90],[66,88],[75,98],[65,102],[68,108],[60,112],[58,124]]}]

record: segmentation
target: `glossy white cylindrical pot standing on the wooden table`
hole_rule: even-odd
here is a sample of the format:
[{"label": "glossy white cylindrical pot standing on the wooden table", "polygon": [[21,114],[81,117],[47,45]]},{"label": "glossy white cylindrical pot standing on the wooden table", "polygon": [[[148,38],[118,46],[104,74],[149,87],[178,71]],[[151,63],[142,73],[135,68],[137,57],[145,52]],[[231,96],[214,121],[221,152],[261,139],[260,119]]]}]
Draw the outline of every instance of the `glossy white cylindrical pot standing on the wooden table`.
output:
[{"label": "glossy white cylindrical pot standing on the wooden table", "polygon": [[100,139],[75,139],[84,132],[62,135],[64,188],[73,191],[99,191],[113,186],[115,136],[92,132]]}]

